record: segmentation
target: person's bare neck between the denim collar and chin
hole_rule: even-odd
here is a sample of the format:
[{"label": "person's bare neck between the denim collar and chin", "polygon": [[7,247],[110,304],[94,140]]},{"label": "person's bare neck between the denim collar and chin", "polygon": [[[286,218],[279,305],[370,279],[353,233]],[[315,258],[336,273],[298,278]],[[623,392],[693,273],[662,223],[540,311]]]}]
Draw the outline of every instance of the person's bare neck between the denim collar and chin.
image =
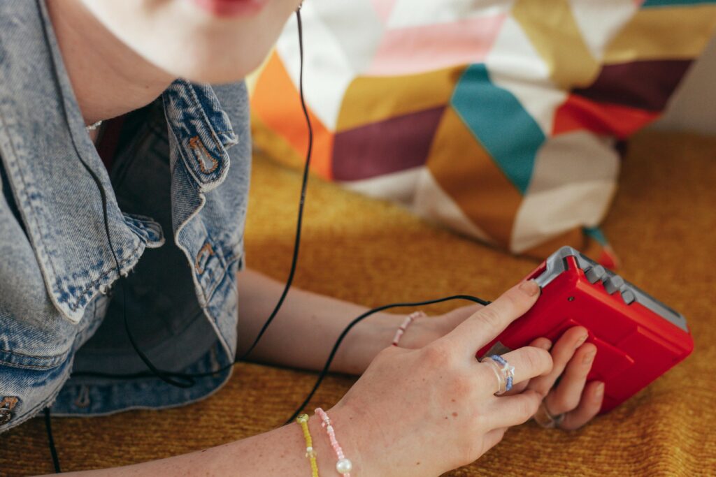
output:
[{"label": "person's bare neck between the denim collar and chin", "polygon": [[85,124],[143,107],[173,81],[117,39],[81,0],[47,0],[47,8]]}]

